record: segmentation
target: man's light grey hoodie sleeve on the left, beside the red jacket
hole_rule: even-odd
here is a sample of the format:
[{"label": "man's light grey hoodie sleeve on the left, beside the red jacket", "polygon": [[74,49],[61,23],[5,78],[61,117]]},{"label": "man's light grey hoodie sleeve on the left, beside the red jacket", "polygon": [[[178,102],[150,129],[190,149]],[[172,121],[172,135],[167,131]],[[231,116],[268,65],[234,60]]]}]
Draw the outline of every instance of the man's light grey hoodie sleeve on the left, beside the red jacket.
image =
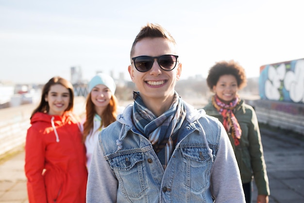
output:
[{"label": "man's light grey hoodie sleeve on the left, beside the red jacket", "polygon": [[118,181],[103,156],[99,142],[94,148],[86,186],[87,203],[115,203]]}]

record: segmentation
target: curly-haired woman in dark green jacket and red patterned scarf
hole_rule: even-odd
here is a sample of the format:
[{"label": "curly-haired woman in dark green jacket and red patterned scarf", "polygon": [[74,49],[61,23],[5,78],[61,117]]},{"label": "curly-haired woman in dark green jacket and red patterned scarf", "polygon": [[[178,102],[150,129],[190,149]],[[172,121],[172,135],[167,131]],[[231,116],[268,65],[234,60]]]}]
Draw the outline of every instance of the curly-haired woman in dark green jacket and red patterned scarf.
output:
[{"label": "curly-haired woman in dark green jacket and red patterned scarf", "polygon": [[216,63],[207,77],[207,85],[214,95],[203,109],[219,118],[227,131],[240,169],[246,203],[251,203],[253,177],[257,203],[268,203],[270,189],[257,117],[253,107],[238,95],[246,83],[245,70],[238,63]]}]

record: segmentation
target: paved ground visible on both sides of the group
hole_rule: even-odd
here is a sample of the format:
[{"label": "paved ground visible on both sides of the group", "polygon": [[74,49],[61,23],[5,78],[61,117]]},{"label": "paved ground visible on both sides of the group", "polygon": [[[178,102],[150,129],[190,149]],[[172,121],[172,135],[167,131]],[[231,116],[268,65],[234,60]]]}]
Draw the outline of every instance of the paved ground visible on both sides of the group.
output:
[{"label": "paved ground visible on both sides of the group", "polygon": [[[267,173],[269,203],[304,203],[304,135],[261,128]],[[28,203],[24,175],[24,151],[0,162],[0,203]],[[256,203],[256,187],[253,201]]]}]

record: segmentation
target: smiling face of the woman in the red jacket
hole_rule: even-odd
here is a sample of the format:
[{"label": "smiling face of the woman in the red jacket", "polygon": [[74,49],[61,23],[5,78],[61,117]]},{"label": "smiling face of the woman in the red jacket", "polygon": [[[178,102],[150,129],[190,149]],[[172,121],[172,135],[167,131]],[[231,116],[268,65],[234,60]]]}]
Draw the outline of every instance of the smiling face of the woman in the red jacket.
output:
[{"label": "smiling face of the woman in the red jacket", "polygon": [[68,108],[70,94],[68,88],[63,85],[51,85],[50,91],[45,96],[45,101],[49,103],[49,115],[61,116]]}]

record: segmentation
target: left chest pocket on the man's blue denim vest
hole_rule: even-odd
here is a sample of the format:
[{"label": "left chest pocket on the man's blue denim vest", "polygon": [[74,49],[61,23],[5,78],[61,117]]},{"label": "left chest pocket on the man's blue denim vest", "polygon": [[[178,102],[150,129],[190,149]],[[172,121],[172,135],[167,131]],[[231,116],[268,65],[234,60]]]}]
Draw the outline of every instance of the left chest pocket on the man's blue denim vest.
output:
[{"label": "left chest pocket on the man's blue denim vest", "polygon": [[118,155],[108,161],[118,179],[118,190],[129,199],[142,195],[147,185],[143,178],[143,152]]}]

